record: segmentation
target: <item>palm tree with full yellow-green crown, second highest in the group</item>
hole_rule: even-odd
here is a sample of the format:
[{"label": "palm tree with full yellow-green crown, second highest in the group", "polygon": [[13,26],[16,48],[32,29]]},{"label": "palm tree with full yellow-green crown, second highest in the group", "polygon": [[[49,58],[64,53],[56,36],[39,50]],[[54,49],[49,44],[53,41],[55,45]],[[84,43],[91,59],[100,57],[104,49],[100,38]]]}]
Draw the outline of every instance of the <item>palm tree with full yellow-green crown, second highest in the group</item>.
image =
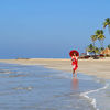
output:
[{"label": "palm tree with full yellow-green crown, second highest in the group", "polygon": [[103,48],[103,40],[106,38],[106,36],[103,35],[103,31],[102,30],[97,30],[96,31],[96,36],[99,40],[101,47]]}]

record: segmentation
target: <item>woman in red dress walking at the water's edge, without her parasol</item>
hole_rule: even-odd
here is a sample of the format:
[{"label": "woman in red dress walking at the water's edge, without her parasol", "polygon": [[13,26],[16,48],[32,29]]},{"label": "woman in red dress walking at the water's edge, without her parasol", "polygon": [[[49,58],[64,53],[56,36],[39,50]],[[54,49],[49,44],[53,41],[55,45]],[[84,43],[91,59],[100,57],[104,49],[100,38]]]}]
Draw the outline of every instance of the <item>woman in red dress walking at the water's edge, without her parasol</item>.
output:
[{"label": "woman in red dress walking at the water's edge, without her parasol", "polygon": [[72,56],[72,65],[73,65],[73,77],[76,74],[77,77],[77,68],[78,68],[78,56],[76,55],[76,53],[73,54]]}]

